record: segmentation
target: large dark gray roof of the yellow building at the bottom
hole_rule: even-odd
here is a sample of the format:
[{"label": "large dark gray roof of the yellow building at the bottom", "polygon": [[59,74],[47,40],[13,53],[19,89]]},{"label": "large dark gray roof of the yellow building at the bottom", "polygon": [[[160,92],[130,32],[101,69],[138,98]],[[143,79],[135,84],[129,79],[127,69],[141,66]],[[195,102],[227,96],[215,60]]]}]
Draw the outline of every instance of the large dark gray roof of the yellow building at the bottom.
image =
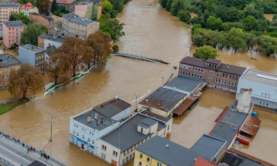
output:
[{"label": "large dark gray roof of the yellow building at the bottom", "polygon": [[[168,148],[166,145],[168,145]],[[160,136],[154,136],[145,141],[140,146],[136,147],[136,150],[166,165],[172,166],[192,166],[194,164],[194,159],[197,157],[201,157],[204,160],[209,159],[205,155],[192,151],[191,149],[185,148]]]}]

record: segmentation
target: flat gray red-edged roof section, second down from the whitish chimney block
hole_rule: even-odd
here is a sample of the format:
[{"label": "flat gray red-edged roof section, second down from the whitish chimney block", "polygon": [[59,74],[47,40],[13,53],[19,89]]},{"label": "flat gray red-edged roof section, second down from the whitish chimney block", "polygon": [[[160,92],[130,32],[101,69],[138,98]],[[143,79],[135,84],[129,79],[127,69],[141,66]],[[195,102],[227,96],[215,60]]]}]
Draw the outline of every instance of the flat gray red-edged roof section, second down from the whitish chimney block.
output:
[{"label": "flat gray red-edged roof section, second down from the whitish chimney block", "polygon": [[238,126],[227,124],[224,122],[218,122],[218,124],[214,127],[214,129],[209,135],[222,139],[224,141],[227,141],[226,143],[226,148],[227,148],[231,143],[231,141],[235,138],[237,133],[238,133]]}]

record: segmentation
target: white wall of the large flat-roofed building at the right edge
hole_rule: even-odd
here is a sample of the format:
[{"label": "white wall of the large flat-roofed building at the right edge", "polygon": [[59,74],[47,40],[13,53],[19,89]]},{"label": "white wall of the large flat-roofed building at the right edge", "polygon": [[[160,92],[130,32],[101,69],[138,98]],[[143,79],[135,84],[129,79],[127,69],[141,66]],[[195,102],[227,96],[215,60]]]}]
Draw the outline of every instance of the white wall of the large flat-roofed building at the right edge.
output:
[{"label": "white wall of the large flat-roofed building at the right edge", "polygon": [[[273,108],[273,109],[277,108],[276,87],[240,79],[238,83],[238,90],[236,93],[237,99],[239,98],[239,95],[240,95],[240,91],[239,91],[240,88],[252,89],[251,103]],[[262,93],[263,93],[263,96],[262,96]],[[265,94],[267,94],[267,97],[265,97]],[[268,97],[269,94],[270,94],[270,97]]]}]

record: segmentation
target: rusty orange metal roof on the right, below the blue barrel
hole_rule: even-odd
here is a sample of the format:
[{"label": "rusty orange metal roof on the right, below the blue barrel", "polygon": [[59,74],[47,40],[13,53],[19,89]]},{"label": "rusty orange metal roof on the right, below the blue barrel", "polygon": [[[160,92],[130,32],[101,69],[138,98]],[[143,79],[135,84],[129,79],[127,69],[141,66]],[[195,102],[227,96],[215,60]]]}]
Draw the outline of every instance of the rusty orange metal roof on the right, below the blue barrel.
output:
[{"label": "rusty orange metal roof on the right, below the blue barrel", "polygon": [[258,117],[249,115],[240,131],[254,136],[259,128],[260,123],[261,120],[259,120]]}]

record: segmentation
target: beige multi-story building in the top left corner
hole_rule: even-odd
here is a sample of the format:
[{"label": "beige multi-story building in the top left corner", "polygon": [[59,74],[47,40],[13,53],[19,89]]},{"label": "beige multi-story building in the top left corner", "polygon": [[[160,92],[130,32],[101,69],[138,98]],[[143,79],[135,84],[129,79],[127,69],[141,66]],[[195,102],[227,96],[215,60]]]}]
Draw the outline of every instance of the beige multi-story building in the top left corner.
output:
[{"label": "beige multi-story building in the top left corner", "polygon": [[0,24],[8,21],[11,13],[19,13],[19,3],[0,3]]}]

